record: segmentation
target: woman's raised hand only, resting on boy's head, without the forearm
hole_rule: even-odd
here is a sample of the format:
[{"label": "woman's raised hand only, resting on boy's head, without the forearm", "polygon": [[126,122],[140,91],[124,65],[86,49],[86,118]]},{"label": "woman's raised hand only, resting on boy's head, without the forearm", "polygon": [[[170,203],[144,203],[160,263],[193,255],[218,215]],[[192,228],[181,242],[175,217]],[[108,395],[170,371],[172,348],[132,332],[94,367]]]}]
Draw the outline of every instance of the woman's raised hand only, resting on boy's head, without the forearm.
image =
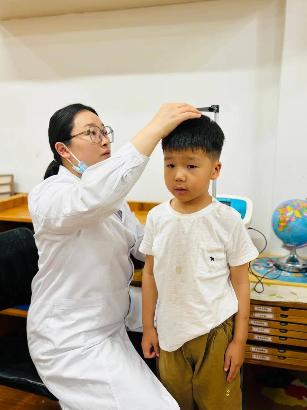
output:
[{"label": "woman's raised hand only, resting on boy's head, without the forearm", "polygon": [[165,138],[170,132],[175,130],[177,125],[186,120],[199,118],[202,113],[195,107],[185,103],[163,104],[157,114],[147,125],[155,132],[160,133],[160,138]]}]

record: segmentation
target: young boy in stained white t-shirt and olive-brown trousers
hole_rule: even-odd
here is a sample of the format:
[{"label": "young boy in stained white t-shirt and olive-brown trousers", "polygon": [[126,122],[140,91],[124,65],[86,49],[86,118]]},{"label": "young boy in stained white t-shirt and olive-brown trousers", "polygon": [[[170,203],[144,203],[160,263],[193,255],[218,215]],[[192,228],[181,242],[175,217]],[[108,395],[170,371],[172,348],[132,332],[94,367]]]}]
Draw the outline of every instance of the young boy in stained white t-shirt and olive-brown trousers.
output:
[{"label": "young boy in stained white t-shirt and olive-brown trousers", "polygon": [[143,353],[159,357],[161,382],[181,410],[193,410],[195,402],[199,410],[241,408],[247,264],[258,251],[240,214],[208,193],[220,174],[223,143],[221,128],[207,116],[184,121],[162,140],[174,198],[148,213],[140,247],[147,255]]}]

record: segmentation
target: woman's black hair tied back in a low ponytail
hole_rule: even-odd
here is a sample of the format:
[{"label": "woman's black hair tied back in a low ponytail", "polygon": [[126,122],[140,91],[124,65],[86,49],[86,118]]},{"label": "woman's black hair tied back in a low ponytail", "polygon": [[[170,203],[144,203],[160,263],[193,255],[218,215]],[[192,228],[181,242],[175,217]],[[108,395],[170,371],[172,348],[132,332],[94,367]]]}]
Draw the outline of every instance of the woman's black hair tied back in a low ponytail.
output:
[{"label": "woman's black hair tied back in a low ponytail", "polygon": [[50,118],[48,137],[54,160],[48,165],[48,168],[44,175],[44,180],[58,173],[60,164],[62,164],[62,157],[57,153],[55,144],[57,142],[63,142],[64,144],[69,143],[70,139],[72,138],[70,133],[74,128],[74,116],[79,111],[83,111],[84,109],[98,115],[94,108],[77,103],[70,104],[67,105],[67,107],[58,109],[58,111],[56,111]]}]

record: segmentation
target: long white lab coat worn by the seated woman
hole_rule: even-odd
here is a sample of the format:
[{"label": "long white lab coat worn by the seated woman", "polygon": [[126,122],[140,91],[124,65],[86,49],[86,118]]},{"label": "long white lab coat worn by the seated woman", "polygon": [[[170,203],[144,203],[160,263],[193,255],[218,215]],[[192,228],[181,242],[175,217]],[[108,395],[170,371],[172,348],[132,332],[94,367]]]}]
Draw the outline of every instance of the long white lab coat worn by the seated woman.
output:
[{"label": "long white lab coat worn by the seated woman", "polygon": [[[173,410],[130,342],[139,224],[125,196],[148,158],[131,143],[78,178],[60,166],[29,195],[39,271],[27,319],[31,358],[63,410]],[[122,221],[114,214],[122,212]],[[140,317],[140,315],[139,315]],[[132,327],[140,326],[134,314]]]}]

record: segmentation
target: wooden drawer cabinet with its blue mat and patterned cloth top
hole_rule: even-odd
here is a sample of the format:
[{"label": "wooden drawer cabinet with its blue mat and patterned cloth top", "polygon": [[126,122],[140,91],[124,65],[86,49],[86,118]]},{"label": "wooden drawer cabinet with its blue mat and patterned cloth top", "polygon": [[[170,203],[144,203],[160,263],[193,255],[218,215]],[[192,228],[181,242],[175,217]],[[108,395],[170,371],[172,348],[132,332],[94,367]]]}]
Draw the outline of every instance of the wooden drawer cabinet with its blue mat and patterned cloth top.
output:
[{"label": "wooden drawer cabinet with its blue mat and patterned cloth top", "polygon": [[[272,258],[260,255],[251,264],[258,278],[273,272]],[[246,362],[307,370],[307,278],[304,273],[280,272],[257,278],[250,274],[251,311]]]}]

